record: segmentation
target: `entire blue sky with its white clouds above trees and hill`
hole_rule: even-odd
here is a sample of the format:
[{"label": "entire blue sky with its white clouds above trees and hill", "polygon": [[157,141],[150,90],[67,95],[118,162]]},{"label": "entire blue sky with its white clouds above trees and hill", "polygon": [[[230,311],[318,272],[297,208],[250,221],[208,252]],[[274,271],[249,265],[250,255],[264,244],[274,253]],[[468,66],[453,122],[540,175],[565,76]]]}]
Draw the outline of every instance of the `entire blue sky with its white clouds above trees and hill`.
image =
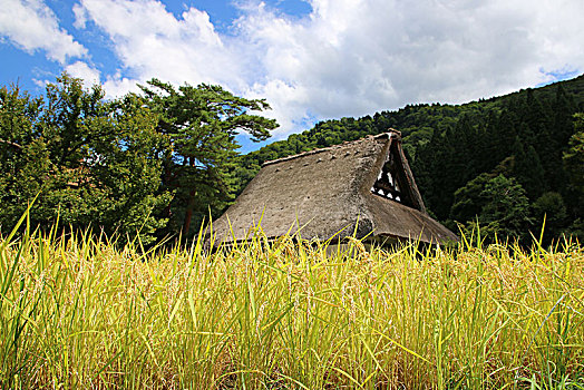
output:
[{"label": "entire blue sky with its white clouds above trees and hill", "polygon": [[0,82],[41,94],[67,70],[108,97],[152,77],[221,84],[266,98],[281,139],[581,75],[583,19],[582,0],[2,0]]}]

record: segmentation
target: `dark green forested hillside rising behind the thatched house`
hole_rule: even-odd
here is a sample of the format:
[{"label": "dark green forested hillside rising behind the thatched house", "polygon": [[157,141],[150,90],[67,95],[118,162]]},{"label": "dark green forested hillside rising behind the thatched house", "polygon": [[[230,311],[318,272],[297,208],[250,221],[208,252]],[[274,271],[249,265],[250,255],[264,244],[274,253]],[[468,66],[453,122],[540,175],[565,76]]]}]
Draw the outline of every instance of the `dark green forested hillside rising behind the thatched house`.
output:
[{"label": "dark green forested hillside rising behind the thatched house", "polygon": [[[241,192],[265,160],[353,140],[389,127],[403,146],[430,213],[450,228],[545,241],[583,235],[584,76],[465,105],[412,105],[317,124],[239,157]],[[580,119],[577,119],[580,118]],[[578,128],[580,126],[580,128]]]}]

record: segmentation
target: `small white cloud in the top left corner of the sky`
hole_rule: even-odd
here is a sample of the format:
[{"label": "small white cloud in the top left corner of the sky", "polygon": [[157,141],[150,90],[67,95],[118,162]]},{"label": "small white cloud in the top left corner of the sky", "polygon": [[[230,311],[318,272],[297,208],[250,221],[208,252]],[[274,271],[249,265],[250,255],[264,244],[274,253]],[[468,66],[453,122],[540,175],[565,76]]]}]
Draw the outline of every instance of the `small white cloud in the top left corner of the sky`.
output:
[{"label": "small white cloud in the top left corner of the sky", "polygon": [[50,60],[60,64],[87,55],[82,45],[59,28],[55,13],[40,0],[3,0],[0,36],[29,52],[46,50]]}]

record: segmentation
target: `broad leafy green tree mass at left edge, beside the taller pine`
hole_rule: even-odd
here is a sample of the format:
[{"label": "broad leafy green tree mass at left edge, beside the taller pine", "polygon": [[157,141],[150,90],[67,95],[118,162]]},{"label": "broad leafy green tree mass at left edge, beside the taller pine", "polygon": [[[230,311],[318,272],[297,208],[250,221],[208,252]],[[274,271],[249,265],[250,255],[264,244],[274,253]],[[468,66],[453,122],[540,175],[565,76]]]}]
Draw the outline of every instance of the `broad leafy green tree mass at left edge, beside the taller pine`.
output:
[{"label": "broad leafy green tree mass at left edge, beside the taller pine", "polygon": [[59,215],[67,227],[93,226],[121,240],[140,231],[148,242],[165,225],[155,217],[171,198],[158,191],[167,143],[155,130],[157,116],[138,96],[113,101],[104,96],[99,86],[85,89],[67,74],[47,85],[45,99],[2,89],[4,228],[37,194],[31,221],[40,226]]}]

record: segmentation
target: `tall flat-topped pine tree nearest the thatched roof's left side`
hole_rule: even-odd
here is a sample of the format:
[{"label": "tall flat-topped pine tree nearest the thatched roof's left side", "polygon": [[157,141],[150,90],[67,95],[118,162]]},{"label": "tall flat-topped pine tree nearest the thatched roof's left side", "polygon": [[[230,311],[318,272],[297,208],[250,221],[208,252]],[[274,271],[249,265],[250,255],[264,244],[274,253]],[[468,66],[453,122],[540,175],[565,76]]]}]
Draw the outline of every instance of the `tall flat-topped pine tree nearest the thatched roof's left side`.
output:
[{"label": "tall flat-topped pine tree nearest the thatched roof's left side", "polygon": [[162,188],[175,196],[164,216],[171,218],[169,232],[181,230],[187,237],[210,208],[216,216],[233,199],[237,133],[263,140],[278,124],[251,114],[270,108],[264,99],[237,97],[220,86],[175,88],[153,79],[142,89],[171,145],[163,156]]}]

